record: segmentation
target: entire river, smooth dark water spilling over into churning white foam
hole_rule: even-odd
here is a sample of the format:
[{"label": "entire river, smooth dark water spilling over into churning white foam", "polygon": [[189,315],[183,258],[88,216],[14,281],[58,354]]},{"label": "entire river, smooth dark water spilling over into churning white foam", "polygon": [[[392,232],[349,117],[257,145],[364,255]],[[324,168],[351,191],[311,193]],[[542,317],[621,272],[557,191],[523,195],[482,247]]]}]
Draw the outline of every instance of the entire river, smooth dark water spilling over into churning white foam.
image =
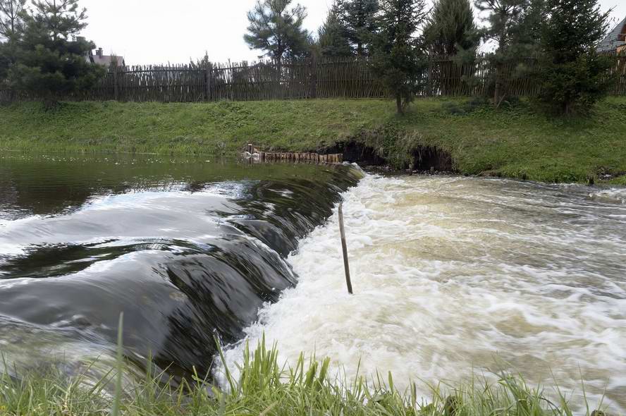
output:
[{"label": "entire river, smooth dark water spilling over into churning white foam", "polygon": [[[352,285],[345,290],[337,204]],[[183,377],[281,361],[406,386],[522,374],[626,410],[626,190],[350,166],[0,159],[0,349],[68,373],[115,349]],[[173,365],[172,365],[173,363]],[[421,383],[420,383],[421,382]],[[550,389],[548,387],[548,389]]]}]

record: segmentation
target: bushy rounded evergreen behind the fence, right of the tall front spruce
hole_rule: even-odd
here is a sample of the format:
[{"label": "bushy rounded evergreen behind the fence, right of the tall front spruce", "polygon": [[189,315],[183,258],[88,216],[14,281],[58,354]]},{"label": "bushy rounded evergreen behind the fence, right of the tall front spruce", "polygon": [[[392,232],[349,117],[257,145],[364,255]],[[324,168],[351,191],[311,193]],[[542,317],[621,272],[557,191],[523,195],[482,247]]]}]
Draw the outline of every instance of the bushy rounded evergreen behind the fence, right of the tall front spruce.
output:
[{"label": "bushy rounded evergreen behind the fence, right of the tall front spruce", "polygon": [[432,53],[455,56],[469,51],[472,55],[480,42],[469,0],[438,0],[424,28],[426,45]]}]

